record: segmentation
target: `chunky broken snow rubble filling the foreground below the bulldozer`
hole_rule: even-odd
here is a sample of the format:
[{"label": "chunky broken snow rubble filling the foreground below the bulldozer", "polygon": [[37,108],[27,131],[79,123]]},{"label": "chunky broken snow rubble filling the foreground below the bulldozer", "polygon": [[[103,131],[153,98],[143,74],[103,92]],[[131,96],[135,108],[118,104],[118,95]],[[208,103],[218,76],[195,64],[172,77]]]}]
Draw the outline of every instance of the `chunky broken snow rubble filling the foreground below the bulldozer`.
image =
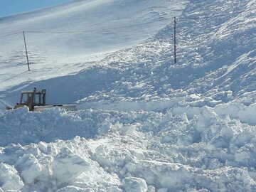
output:
[{"label": "chunky broken snow rubble filling the foreground below the bulldozer", "polygon": [[[28,131],[26,135],[17,134],[15,138],[17,123],[8,119],[4,122],[6,115],[1,117],[1,124],[9,129],[1,137],[13,138],[1,143],[0,160],[15,167],[16,177],[25,182],[27,191],[44,191],[47,186],[53,191],[107,191],[110,187],[113,191],[240,191],[255,186],[255,125],[221,118],[209,107],[198,108],[192,118],[186,115],[190,112],[172,114],[171,109],[72,113],[58,108],[24,110],[5,113],[16,118],[15,122],[23,121],[24,127],[20,128],[21,132]],[[39,118],[46,127],[43,130],[41,124],[34,123]],[[90,130],[75,137],[76,129],[81,127]],[[31,142],[31,137],[37,144]]]}]

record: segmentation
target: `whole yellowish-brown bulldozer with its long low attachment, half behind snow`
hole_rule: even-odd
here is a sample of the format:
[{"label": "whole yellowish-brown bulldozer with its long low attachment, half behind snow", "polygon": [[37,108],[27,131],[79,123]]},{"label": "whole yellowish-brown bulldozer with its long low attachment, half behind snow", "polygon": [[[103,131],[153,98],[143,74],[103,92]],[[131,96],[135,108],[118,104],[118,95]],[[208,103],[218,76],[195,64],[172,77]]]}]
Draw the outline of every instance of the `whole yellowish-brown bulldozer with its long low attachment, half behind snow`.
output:
[{"label": "whole yellowish-brown bulldozer with its long low attachment, half behind snow", "polygon": [[[34,88],[34,90],[31,90],[31,91],[21,92],[21,100],[19,103],[17,103],[14,106],[14,109],[17,109],[23,106],[27,106],[30,111],[42,111],[51,107],[60,107],[62,109],[71,110],[71,111],[77,110],[76,105],[46,104],[46,89],[39,91],[39,90],[36,90],[36,88]],[[12,108],[9,106],[6,107],[6,110],[11,110],[11,109]]]}]

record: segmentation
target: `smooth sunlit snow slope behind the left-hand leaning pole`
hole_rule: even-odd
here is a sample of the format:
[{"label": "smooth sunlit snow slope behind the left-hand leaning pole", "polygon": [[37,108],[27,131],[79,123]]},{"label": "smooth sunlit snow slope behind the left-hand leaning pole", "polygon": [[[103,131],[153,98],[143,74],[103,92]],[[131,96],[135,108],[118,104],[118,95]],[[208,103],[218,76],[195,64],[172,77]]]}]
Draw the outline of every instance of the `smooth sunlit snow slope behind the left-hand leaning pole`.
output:
[{"label": "smooth sunlit snow slope behind the left-hand leaning pole", "polygon": [[[0,90],[77,73],[114,50],[149,38],[174,15],[181,14],[186,3],[187,0],[70,1],[42,11],[0,18],[0,82],[11,78],[1,83]],[[22,31],[31,72],[18,75],[27,70]]]}]

